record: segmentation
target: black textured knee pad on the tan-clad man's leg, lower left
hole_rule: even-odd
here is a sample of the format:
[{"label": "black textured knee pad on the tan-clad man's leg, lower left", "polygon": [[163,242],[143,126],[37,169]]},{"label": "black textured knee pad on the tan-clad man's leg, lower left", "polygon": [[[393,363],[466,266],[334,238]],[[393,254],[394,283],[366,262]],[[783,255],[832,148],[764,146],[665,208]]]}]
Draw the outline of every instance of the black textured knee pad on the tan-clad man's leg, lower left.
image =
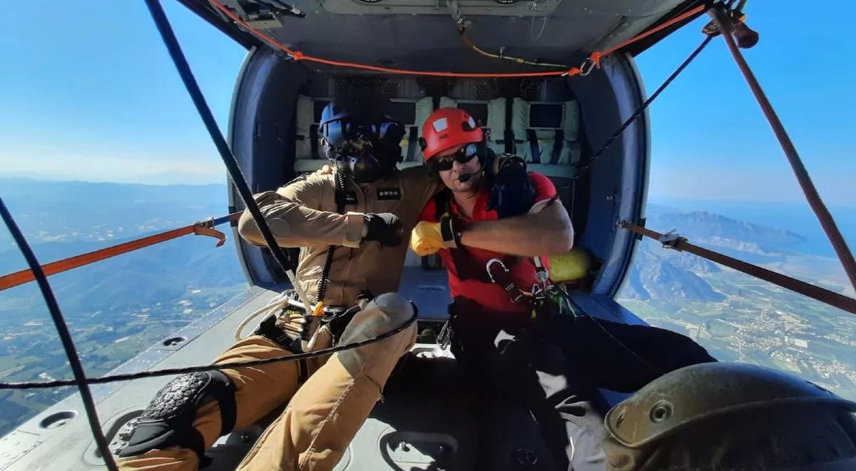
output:
[{"label": "black textured knee pad on the tan-clad man's leg, lower left", "polygon": [[119,456],[137,456],[177,446],[193,450],[199,456],[200,466],[208,464],[205,440],[193,428],[193,420],[209,397],[220,405],[220,434],[231,432],[236,417],[235,384],[218,371],[182,374],[155,394]]}]

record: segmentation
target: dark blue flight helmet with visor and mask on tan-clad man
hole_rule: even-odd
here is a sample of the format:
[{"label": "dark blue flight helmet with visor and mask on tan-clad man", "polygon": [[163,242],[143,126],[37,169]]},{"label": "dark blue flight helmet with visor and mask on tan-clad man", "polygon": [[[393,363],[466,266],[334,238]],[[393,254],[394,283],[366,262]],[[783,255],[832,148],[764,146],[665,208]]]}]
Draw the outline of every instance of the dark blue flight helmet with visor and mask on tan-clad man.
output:
[{"label": "dark blue flight helmet with visor and mask on tan-clad man", "polygon": [[374,182],[401,162],[404,127],[384,112],[389,100],[350,95],[324,107],[319,128],[336,170]]}]

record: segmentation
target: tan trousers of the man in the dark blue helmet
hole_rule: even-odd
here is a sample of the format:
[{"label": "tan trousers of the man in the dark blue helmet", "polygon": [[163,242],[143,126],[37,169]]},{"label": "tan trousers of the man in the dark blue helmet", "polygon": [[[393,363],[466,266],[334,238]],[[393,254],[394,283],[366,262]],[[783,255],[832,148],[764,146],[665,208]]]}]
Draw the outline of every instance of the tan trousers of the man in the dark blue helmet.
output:
[{"label": "tan trousers of the man in the dark blue helmet", "polygon": [[[359,342],[392,331],[412,315],[413,307],[400,295],[377,296],[354,316],[340,343]],[[309,361],[310,373],[317,371],[303,385],[299,384],[295,361],[223,370],[235,382],[235,429],[253,424],[288,402],[238,469],[332,469],[380,398],[398,359],[415,340],[413,324],[380,342],[331,355],[328,361]],[[235,343],[214,364],[287,353],[265,337],[253,336]],[[205,450],[211,448],[220,432],[217,401],[199,408],[193,426],[205,438]],[[121,458],[118,464],[124,471],[184,471],[199,468],[199,458],[192,450],[169,448]]]}]

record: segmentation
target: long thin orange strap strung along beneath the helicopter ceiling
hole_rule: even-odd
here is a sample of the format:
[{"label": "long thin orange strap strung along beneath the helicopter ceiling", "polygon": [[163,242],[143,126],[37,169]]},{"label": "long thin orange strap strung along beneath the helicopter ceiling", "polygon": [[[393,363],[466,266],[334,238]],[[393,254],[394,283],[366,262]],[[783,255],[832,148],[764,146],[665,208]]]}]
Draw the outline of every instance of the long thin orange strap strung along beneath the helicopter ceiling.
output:
[{"label": "long thin orange strap strung along beneath the helicopter ceiling", "polygon": [[[480,73],[456,73],[456,72],[443,72],[443,71],[428,71],[428,70],[411,70],[411,69],[393,69],[389,67],[380,67],[377,65],[370,65],[365,63],[349,63],[344,61],[335,61],[332,59],[325,59],[324,57],[314,57],[307,56],[303,52],[296,51],[294,49],[289,48],[286,45],[283,45],[281,42],[276,39],[271,38],[265,33],[262,33],[258,29],[251,27],[247,24],[246,21],[241,20],[241,17],[235,15],[231,10],[226,8],[223,3],[220,3],[218,0],[209,0],[212,5],[214,5],[217,9],[223,12],[223,15],[229,16],[232,21],[241,25],[244,29],[246,29],[249,33],[253,34],[256,38],[259,38],[269,45],[279,49],[280,51],[284,51],[288,53],[289,56],[294,58],[295,61],[309,61],[312,63],[323,63],[327,65],[332,65],[336,67],[347,67],[351,69],[362,69],[362,70],[372,70],[374,72],[383,72],[386,74],[398,74],[398,75],[425,75],[431,77],[457,77],[457,78],[482,78],[482,79],[490,79],[490,78],[523,78],[523,77],[550,77],[550,76],[560,76],[560,75],[586,75],[583,69],[578,67],[572,67],[568,70],[550,70],[545,72],[514,72],[514,73],[504,73],[497,74],[496,72],[480,72]],[[601,57],[615,52],[626,45],[630,45],[639,41],[639,39],[643,39],[653,33],[657,33],[658,31],[663,30],[664,28],[670,27],[679,21],[684,21],[690,16],[697,15],[704,11],[704,5],[698,5],[698,7],[687,11],[681,15],[675,16],[675,18],[666,21],[662,25],[652,28],[645,33],[641,33],[638,36],[634,36],[631,39],[627,39],[620,45],[616,45],[613,48],[608,49],[607,51],[595,51],[591,53],[591,56],[586,60],[586,62],[591,62],[595,66],[600,67],[600,59]]]}]

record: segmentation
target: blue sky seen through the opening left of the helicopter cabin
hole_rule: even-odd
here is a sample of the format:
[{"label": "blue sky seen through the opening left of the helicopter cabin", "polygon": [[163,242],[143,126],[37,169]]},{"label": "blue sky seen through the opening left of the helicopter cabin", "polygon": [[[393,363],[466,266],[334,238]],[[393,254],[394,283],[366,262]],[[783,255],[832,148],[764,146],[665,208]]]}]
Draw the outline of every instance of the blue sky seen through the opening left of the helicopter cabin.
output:
[{"label": "blue sky seen through the opening left of the helicopter cabin", "polygon": [[[225,128],[246,51],[178,3],[163,5]],[[224,181],[144,2],[38,0],[3,10],[0,174]]]}]

